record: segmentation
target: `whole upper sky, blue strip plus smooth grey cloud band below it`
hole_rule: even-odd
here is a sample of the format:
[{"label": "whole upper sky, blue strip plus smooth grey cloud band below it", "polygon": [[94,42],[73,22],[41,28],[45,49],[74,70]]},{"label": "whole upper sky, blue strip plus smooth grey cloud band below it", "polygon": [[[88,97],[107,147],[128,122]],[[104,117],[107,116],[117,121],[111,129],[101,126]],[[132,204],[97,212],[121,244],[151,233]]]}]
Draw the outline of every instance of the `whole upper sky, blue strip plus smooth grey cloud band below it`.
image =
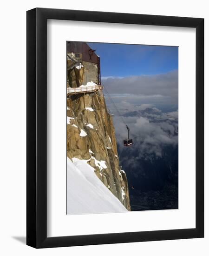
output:
[{"label": "whole upper sky, blue strip plus smooth grey cloud band below it", "polygon": [[118,109],[122,102],[132,110],[142,104],[178,109],[178,47],[88,44],[100,56],[102,84]]}]

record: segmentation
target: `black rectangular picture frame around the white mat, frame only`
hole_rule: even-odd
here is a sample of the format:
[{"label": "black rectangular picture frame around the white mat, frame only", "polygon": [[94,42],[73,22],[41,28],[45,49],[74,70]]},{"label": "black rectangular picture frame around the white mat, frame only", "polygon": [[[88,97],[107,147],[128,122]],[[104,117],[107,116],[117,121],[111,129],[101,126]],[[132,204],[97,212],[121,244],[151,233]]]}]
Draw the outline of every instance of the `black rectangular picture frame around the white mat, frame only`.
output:
[{"label": "black rectangular picture frame around the white mat, frame only", "polygon": [[[47,237],[47,19],[196,28],[196,228]],[[188,60],[189,61],[189,60]],[[27,235],[34,248],[204,237],[204,19],[35,8],[27,11]]]}]

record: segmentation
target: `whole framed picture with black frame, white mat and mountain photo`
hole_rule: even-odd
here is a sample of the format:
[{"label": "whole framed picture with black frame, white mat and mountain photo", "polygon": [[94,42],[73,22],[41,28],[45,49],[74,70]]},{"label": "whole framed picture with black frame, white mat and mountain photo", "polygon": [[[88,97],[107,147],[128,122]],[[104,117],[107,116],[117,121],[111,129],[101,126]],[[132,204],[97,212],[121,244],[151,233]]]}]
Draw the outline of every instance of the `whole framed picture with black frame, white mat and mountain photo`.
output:
[{"label": "whole framed picture with black frame, white mat and mountain photo", "polygon": [[204,236],[204,19],[27,11],[27,245]]}]

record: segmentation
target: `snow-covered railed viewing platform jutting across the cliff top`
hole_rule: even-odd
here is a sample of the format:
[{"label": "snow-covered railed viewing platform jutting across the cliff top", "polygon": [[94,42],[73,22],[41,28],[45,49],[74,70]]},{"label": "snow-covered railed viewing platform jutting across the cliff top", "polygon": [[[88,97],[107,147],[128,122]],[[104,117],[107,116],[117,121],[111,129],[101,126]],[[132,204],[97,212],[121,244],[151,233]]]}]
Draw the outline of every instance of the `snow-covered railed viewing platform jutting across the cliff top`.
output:
[{"label": "snow-covered railed viewing platform jutting across the cliff top", "polygon": [[90,93],[90,92],[96,92],[96,91],[102,91],[103,86],[97,85],[93,82],[88,82],[86,85],[81,85],[77,88],[67,88],[67,95],[71,94],[82,94],[82,93]]}]

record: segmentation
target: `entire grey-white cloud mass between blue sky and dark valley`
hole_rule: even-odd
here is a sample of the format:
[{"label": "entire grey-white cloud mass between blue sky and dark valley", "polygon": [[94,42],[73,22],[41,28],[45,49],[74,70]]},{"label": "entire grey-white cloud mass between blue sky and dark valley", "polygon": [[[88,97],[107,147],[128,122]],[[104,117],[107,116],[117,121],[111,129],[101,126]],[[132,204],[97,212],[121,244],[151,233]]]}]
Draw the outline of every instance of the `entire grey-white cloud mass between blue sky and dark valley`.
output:
[{"label": "entire grey-white cloud mass between blue sky and dark valley", "polygon": [[131,129],[134,145],[130,151],[134,152],[135,159],[161,157],[165,147],[178,145],[178,110],[164,113],[156,107],[178,108],[177,70],[167,74],[109,77],[103,82],[115,103],[105,96],[107,107],[115,114],[119,151],[127,138],[125,123]]}]

